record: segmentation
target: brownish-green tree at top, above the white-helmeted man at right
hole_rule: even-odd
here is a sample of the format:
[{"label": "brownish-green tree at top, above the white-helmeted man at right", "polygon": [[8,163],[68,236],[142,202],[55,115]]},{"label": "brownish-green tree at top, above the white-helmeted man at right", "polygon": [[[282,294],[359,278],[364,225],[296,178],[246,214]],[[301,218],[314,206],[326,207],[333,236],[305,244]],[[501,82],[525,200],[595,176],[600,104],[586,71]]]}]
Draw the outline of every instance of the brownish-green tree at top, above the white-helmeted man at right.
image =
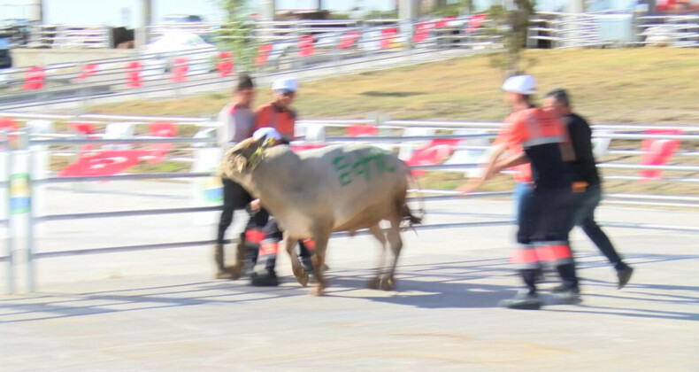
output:
[{"label": "brownish-green tree at top, above the white-helmeted man at right", "polygon": [[534,66],[534,58],[524,58],[523,50],[526,49],[526,30],[529,27],[529,19],[534,14],[534,0],[515,0],[515,9],[506,10],[500,5],[495,5],[488,11],[488,19],[491,26],[488,34],[500,36],[503,50],[495,52],[491,56],[490,64],[500,68],[504,77],[513,74],[522,74],[524,62],[526,66]]}]

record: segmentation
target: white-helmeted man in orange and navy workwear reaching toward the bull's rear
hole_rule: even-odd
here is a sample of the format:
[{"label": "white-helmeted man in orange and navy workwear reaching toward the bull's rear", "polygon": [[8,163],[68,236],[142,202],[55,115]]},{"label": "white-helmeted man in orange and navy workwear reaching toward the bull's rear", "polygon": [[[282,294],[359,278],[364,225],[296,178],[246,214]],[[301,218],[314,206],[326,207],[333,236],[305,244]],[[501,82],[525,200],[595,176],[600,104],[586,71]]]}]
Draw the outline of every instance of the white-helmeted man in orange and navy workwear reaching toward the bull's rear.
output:
[{"label": "white-helmeted man in orange and navy workwear reaching toward the bull's rear", "polygon": [[[500,305],[512,309],[538,309],[542,306],[536,281],[542,275],[542,262],[551,262],[563,281],[563,288],[554,293],[560,303],[580,301],[578,277],[572,258],[568,233],[575,198],[572,176],[566,160],[572,159],[572,148],[563,122],[549,112],[531,104],[536,81],[531,75],[517,75],[503,83],[505,100],[512,112],[503,128],[504,144],[488,162],[480,180],[465,187],[476,190],[482,182],[504,169],[530,163],[533,188],[520,198],[518,208],[518,247],[511,250],[510,260],[518,268],[526,285],[514,298]],[[500,159],[505,148],[511,151]]]}]

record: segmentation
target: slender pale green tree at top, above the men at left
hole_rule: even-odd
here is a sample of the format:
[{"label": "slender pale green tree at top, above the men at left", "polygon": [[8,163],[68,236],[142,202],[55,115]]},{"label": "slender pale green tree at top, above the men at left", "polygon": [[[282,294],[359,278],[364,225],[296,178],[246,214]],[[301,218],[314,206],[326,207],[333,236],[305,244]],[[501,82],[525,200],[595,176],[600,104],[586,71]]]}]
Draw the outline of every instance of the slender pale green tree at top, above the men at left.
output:
[{"label": "slender pale green tree at top, above the men at left", "polygon": [[242,71],[250,71],[257,54],[255,42],[251,37],[254,26],[247,17],[248,8],[245,0],[219,0],[226,11],[226,23],[221,25],[216,34],[221,44],[233,51],[236,66]]}]

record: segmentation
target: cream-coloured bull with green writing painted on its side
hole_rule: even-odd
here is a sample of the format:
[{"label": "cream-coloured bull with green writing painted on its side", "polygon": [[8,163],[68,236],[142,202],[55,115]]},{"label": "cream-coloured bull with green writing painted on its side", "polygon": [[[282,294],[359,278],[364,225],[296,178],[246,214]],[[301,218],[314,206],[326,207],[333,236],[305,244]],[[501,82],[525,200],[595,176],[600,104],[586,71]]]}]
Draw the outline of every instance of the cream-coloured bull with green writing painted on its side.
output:
[{"label": "cream-coloured bull with green writing painted on its side", "polygon": [[[401,230],[419,224],[422,217],[406,203],[411,172],[401,159],[367,144],[331,145],[291,151],[288,145],[271,147],[264,138],[250,138],[227,151],[221,163],[223,176],[239,182],[277,218],[298,283],[306,286],[308,274],[293,254],[300,239],[315,242],[312,264],[317,285],[326,288],[324,268],[328,239],[336,231],[350,236],[368,229],[380,243],[376,275],[368,287],[391,291],[396,287],[396,264],[403,248]],[[387,230],[380,221],[388,221]],[[386,244],[393,260],[384,267]],[[240,256],[239,256],[240,257]],[[240,260],[236,264],[240,269]]]}]

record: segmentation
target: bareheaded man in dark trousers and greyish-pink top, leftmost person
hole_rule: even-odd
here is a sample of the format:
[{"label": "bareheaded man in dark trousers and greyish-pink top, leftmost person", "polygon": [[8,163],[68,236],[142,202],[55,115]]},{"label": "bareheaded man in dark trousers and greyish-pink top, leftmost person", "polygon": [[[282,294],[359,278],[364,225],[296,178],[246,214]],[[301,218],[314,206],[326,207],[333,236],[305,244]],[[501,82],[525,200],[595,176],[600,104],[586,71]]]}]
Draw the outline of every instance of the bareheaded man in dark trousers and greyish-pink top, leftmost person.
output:
[{"label": "bareheaded man in dark trousers and greyish-pink top, leftmost person", "polygon": [[[235,87],[233,101],[224,106],[219,113],[219,122],[222,127],[219,131],[219,142],[225,148],[232,147],[235,143],[250,138],[255,127],[255,114],[252,111],[252,101],[255,97],[255,84],[250,75],[242,74],[238,78]],[[233,223],[235,210],[243,209],[250,204],[252,198],[248,191],[236,182],[222,178],[223,182],[223,212],[219,220],[219,231],[214,246],[214,261],[216,262],[216,278],[237,279],[240,276],[240,268],[227,267],[225,264],[224,240],[226,230]],[[239,245],[243,244],[241,236]],[[240,255],[242,249],[237,249]],[[241,262],[242,257],[238,257]]]}]

